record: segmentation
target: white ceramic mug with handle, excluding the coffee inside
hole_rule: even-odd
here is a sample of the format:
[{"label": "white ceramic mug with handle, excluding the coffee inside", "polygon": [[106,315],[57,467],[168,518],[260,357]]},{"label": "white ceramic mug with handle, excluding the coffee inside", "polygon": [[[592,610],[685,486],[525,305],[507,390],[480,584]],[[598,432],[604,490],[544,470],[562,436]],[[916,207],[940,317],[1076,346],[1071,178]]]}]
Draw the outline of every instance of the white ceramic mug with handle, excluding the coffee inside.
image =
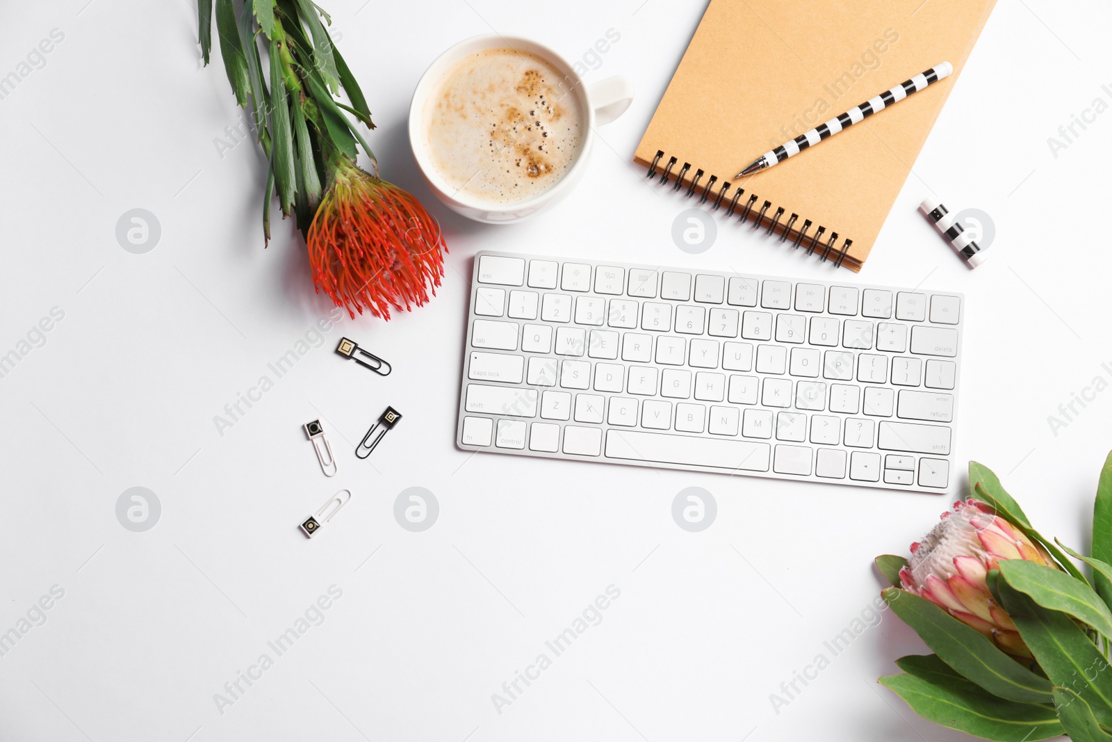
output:
[{"label": "white ceramic mug with handle, excluding the coffee inside", "polygon": [[[567,172],[552,188],[525,200],[512,204],[490,204],[467,194],[457,192],[451,188],[433,166],[431,154],[428,151],[428,137],[424,115],[429,96],[435,95],[445,77],[455,68],[460,59],[485,49],[518,49],[534,53],[555,67],[567,82],[569,95],[577,96],[579,106],[585,111],[586,125],[579,142],[579,151]],[[417,167],[428,187],[444,204],[454,211],[477,221],[489,224],[508,224],[520,221],[564,198],[575,187],[587,167],[590,147],[595,139],[595,127],[609,123],[622,116],[633,102],[633,83],[625,77],[615,76],[585,87],[575,73],[572,65],[555,51],[544,44],[497,33],[477,36],[460,41],[437,57],[421,76],[409,103],[409,146],[413,148]]]}]

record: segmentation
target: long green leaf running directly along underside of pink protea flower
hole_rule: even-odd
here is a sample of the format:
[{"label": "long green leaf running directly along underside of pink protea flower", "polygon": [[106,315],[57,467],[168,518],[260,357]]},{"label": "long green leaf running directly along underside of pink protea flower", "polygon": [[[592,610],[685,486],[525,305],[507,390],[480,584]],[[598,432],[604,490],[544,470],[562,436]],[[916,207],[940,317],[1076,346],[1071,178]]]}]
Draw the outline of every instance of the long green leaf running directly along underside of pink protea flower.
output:
[{"label": "long green leaf running directly along underside of pink protea flower", "polygon": [[913,593],[888,587],[881,593],[892,611],[915,630],[947,665],[993,695],[1021,703],[1049,703],[1051,684],[974,629]]}]

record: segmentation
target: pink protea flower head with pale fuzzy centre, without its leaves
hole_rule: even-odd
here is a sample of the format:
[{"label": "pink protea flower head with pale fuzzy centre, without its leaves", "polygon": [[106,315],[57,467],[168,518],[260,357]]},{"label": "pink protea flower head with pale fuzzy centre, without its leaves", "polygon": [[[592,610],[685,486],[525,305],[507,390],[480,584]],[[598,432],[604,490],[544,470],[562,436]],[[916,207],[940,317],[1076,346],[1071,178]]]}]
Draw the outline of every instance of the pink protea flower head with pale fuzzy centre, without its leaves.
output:
[{"label": "pink protea flower head with pale fuzzy centre, without its leaves", "polygon": [[985,576],[1003,560],[1025,560],[1058,568],[1042,546],[999,517],[987,503],[954,503],[953,513],[911,545],[911,560],[900,571],[903,588],[927,598],[972,626],[1009,654],[1027,657],[1011,616],[996,604]]}]

